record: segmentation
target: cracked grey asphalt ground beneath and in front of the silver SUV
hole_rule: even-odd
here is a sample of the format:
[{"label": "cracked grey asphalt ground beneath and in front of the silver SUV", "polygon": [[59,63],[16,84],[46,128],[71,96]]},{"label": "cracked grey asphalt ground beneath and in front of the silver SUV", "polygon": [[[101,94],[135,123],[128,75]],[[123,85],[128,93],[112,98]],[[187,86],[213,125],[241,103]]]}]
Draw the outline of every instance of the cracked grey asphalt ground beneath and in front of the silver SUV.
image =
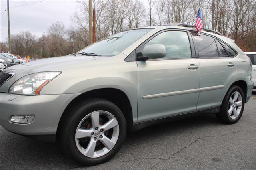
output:
[{"label": "cracked grey asphalt ground beneath and in front of the silver SUV", "polygon": [[0,169],[256,169],[256,91],[234,125],[207,114],[127,134],[120,152],[99,166],[70,162],[53,143],[0,127]]}]

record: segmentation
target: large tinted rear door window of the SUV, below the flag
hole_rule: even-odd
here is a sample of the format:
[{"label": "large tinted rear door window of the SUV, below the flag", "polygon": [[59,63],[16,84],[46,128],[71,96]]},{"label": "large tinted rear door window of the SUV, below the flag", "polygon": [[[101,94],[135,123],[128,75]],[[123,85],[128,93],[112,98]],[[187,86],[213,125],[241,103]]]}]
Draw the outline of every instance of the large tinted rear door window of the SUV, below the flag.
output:
[{"label": "large tinted rear door window of the SUV, below the flag", "polygon": [[213,37],[202,34],[201,36],[195,36],[194,38],[196,40],[200,58],[219,57],[218,48]]}]

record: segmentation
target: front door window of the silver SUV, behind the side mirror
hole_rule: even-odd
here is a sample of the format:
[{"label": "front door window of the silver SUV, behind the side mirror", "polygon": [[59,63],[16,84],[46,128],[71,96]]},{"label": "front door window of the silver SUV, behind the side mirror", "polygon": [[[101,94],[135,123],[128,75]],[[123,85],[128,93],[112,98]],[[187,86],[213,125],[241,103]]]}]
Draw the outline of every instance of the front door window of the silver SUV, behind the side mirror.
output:
[{"label": "front door window of the silver SUV, behind the side mirror", "polygon": [[166,31],[152,38],[146,45],[163,44],[166,56],[162,59],[191,58],[188,34],[185,31]]}]

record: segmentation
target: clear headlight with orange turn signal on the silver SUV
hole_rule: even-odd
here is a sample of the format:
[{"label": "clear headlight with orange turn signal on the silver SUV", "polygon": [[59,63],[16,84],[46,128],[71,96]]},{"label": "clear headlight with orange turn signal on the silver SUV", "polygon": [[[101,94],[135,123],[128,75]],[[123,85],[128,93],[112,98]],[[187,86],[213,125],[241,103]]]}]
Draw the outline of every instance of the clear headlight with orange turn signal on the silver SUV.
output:
[{"label": "clear headlight with orange turn signal on the silver SUV", "polygon": [[60,73],[60,71],[51,71],[26,75],[12,84],[9,93],[38,95],[44,85],[57,77]]}]

